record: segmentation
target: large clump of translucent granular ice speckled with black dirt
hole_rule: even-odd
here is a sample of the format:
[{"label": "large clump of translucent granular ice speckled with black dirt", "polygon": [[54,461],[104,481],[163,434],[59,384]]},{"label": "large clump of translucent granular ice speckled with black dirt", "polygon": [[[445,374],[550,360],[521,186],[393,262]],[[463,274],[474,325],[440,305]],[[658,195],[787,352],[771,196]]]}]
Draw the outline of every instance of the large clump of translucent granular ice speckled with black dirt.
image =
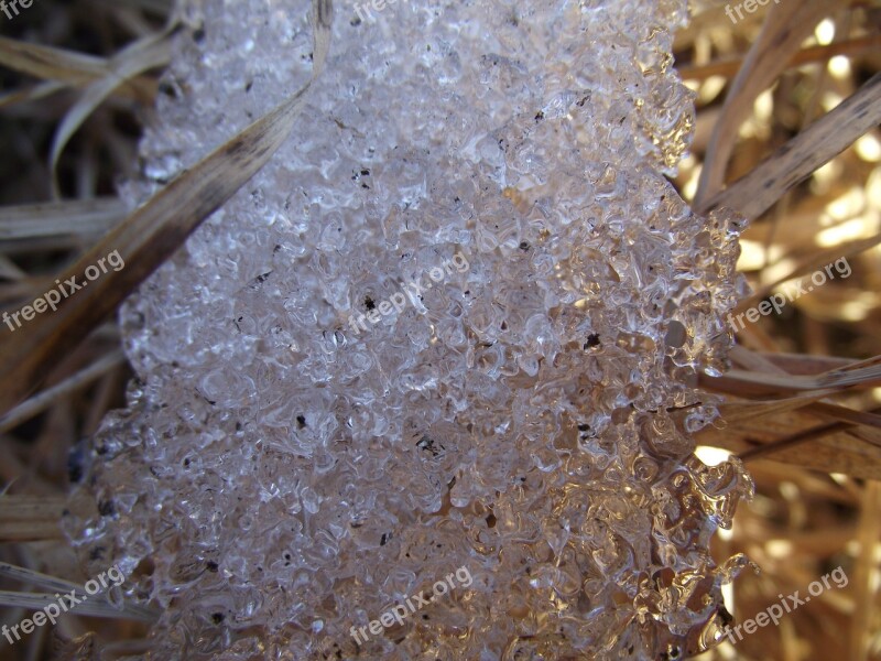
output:
[{"label": "large clump of translucent granular ice speckled with black dirt", "polygon": [[[185,10],[132,204],[311,73],[308,3]],[[663,176],[685,1],[369,13],[337,6],[293,138],[123,311],[139,379],[73,537],[162,608],[153,659],[696,651],[750,484],[692,455],[743,283],[737,221]]]}]

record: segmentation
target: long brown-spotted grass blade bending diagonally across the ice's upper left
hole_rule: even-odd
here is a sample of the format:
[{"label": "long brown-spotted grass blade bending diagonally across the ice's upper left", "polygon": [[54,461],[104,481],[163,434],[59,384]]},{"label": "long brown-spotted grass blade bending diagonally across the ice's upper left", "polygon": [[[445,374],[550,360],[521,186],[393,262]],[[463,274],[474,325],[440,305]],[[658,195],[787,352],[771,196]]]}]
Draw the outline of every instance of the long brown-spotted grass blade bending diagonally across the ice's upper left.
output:
[{"label": "long brown-spotted grass blade bending diagonally across the ice's upper left", "polygon": [[37,317],[26,333],[7,336],[0,353],[0,411],[21,401],[46,371],[95,328],[138,284],[167,259],[196,227],[229,199],[284,142],[320,74],[330,40],[330,0],[314,0],[312,82],[292,98],[215,150],[116,227],[62,278],[85,280],[87,267],[118,250],[126,262],[88,290],[62,300],[57,312]]}]

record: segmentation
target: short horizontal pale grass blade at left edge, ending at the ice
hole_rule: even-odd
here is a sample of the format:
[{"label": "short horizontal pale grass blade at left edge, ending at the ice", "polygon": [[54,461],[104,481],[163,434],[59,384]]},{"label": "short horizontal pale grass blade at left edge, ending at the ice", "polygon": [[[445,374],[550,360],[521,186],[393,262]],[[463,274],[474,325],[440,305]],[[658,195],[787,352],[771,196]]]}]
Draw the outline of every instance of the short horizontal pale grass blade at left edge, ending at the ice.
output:
[{"label": "short horizontal pale grass blade at left edge, ending at the ice", "polygon": [[57,237],[99,236],[126,217],[118,197],[66,199],[0,208],[0,241]]}]

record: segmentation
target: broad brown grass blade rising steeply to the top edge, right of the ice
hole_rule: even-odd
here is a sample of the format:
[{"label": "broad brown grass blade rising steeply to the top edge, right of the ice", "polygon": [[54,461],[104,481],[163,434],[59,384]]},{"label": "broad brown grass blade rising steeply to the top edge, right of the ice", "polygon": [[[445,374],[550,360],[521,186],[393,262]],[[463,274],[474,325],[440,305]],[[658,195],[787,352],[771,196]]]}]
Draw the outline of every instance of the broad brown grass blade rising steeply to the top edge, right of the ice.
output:
[{"label": "broad brown grass blade rising steeply to the top edge, right of the ice", "polygon": [[805,37],[834,9],[837,8],[826,0],[787,0],[771,6],[762,32],[731,83],[714,128],[695,196],[697,208],[709,208],[707,201],[725,184],[738,129],[752,112],[755,98],[786,68]]}]

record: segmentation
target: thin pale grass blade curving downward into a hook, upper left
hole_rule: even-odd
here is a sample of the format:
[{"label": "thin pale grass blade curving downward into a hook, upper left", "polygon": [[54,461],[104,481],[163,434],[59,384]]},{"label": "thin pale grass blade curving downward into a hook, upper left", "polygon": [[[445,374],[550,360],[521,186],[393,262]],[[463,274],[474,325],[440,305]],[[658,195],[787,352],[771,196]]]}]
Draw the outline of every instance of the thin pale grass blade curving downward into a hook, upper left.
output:
[{"label": "thin pale grass blade curving downward into a hook, upper left", "polygon": [[168,34],[171,34],[172,31],[173,24],[170,24],[168,28],[161,33],[151,34],[123,48],[119,55],[108,63],[107,75],[90,84],[83,91],[83,96],[79,100],[67,111],[61,126],[58,126],[58,129],[55,131],[50,155],[52,189],[56,198],[61,197],[61,194],[55,177],[55,170],[67,141],[83,122],[86,121],[88,116],[110,96],[113,89],[139,74],[164,66],[168,63],[171,58]]}]

